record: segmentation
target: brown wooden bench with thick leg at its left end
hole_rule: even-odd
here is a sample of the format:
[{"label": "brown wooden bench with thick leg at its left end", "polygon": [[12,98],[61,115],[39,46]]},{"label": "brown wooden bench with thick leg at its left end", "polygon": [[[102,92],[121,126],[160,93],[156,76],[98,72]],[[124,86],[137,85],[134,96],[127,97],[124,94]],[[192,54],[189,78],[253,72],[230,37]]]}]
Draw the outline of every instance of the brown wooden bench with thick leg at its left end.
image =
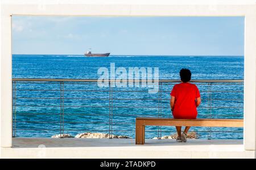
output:
[{"label": "brown wooden bench with thick leg at its left end", "polygon": [[136,118],[136,144],[145,143],[145,126],[243,127],[243,119]]}]

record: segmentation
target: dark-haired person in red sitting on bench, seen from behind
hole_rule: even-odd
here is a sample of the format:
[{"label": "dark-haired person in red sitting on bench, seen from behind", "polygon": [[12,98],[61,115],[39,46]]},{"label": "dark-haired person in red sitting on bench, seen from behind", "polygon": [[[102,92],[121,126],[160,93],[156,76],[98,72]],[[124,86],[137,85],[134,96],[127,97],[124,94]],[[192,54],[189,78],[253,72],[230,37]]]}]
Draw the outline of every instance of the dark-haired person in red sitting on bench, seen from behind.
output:
[{"label": "dark-haired person in red sitting on bench, seen from behind", "polygon": [[[195,119],[197,116],[196,108],[200,105],[200,93],[195,84],[189,83],[191,71],[188,69],[180,70],[182,83],[175,84],[171,92],[171,111],[174,118]],[[177,142],[187,142],[187,133],[190,126],[186,126],[181,134],[181,126],[176,126]]]}]

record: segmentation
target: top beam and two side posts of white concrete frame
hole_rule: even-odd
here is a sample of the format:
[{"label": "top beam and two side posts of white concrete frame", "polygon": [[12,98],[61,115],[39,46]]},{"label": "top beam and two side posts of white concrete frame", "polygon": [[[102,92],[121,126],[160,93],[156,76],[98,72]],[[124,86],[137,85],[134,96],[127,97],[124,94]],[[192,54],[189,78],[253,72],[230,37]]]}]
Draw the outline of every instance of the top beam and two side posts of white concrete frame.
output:
[{"label": "top beam and two side posts of white concrete frame", "polygon": [[1,147],[12,146],[11,15],[245,16],[244,148],[256,147],[256,5],[2,5]]}]

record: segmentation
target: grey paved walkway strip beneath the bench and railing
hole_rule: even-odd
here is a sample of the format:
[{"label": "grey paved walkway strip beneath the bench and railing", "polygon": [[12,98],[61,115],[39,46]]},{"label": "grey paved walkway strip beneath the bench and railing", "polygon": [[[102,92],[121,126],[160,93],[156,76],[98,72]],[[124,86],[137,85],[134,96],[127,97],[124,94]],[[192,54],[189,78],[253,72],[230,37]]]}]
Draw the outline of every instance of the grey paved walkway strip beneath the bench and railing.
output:
[{"label": "grey paved walkway strip beneath the bench and railing", "polygon": [[145,145],[135,145],[135,139],[85,139],[85,138],[13,138],[14,148],[46,147],[174,147],[174,148],[204,148],[212,145],[218,147],[243,148],[242,140],[199,140],[188,139],[188,142],[176,142],[175,139],[146,139]]}]

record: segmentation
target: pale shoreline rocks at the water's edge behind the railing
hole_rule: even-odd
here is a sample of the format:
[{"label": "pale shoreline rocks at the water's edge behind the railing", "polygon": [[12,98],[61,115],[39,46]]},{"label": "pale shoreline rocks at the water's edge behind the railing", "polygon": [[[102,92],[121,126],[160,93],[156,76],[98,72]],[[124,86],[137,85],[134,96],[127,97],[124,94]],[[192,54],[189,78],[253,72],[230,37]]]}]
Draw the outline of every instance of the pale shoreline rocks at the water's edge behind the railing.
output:
[{"label": "pale shoreline rocks at the water's edge behind the railing", "polygon": [[[107,133],[91,133],[91,132],[86,132],[86,133],[80,133],[74,136],[70,135],[70,134],[57,134],[57,135],[53,135],[51,138],[93,138],[93,139],[106,139],[109,137],[112,138],[116,138],[116,139],[131,139],[131,137],[128,137],[126,135],[109,135]],[[177,134],[171,134],[169,136],[164,136],[161,137],[160,139],[176,139],[177,138]],[[195,132],[189,132],[188,139],[198,139],[199,135]],[[152,139],[158,139],[158,137],[154,137]]]}]

